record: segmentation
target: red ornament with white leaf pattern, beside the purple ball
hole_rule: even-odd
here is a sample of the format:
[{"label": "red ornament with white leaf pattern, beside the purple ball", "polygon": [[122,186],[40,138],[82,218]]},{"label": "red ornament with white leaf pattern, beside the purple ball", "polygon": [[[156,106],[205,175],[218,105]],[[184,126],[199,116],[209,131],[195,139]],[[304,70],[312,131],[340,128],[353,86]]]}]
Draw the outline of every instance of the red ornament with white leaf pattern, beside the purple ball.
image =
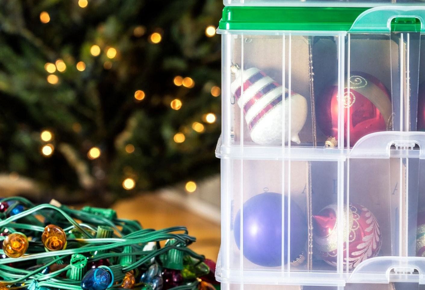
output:
[{"label": "red ornament with white leaf pattern, beside the purple ball", "polygon": [[[344,217],[347,216],[344,208]],[[348,226],[350,231],[344,233],[343,261],[347,265],[348,241],[348,269],[352,270],[366,259],[376,256],[381,248],[382,240],[378,222],[367,208],[357,204],[350,204],[348,208]],[[338,220],[337,206],[331,204],[323,208],[319,214],[313,216],[314,248],[322,259],[330,265],[337,265]],[[344,223],[347,228],[347,223]]]}]

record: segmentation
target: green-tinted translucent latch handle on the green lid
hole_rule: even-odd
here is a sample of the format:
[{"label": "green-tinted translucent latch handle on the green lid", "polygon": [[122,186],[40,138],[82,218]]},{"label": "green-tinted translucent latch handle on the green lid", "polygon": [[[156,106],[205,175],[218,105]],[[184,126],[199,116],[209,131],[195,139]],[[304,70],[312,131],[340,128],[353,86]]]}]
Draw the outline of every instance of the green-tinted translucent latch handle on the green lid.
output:
[{"label": "green-tinted translucent latch handle on the green lid", "polygon": [[425,6],[378,6],[361,13],[349,32],[389,33],[391,20],[396,17],[417,18],[421,22],[421,32],[425,32]]}]

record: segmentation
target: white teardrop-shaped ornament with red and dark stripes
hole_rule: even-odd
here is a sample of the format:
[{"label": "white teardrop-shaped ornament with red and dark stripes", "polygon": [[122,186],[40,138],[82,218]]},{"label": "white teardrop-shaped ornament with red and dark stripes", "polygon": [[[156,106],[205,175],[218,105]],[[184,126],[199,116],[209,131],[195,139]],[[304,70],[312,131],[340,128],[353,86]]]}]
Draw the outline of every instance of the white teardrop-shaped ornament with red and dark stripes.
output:
[{"label": "white teardrop-shaped ornament with red and dark stripes", "polygon": [[[241,92],[243,78],[244,90]],[[283,112],[282,86],[258,68],[238,69],[231,84],[233,96],[239,107],[243,108],[251,139],[260,145],[282,144],[282,115],[285,116],[285,140],[300,144],[298,133],[307,118],[306,98],[285,88]],[[291,114],[289,114],[289,107]],[[291,119],[289,121],[289,115]],[[290,124],[290,130],[289,130]],[[290,135],[290,136],[289,136]]]}]

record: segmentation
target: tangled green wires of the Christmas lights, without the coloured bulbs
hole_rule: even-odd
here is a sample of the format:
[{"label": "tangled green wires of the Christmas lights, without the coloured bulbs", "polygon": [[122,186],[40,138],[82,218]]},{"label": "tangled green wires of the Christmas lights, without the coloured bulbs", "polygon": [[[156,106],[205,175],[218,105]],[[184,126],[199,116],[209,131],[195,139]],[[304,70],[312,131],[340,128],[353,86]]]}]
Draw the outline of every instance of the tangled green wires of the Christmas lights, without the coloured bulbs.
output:
[{"label": "tangled green wires of the Christmas lights, without the coloured bulbs", "polygon": [[[134,273],[146,271],[153,259],[155,259],[155,263],[159,263],[159,266],[161,266],[163,262],[166,262],[163,259],[168,253],[171,253],[170,251],[181,251],[184,255],[197,259],[198,263],[195,265],[204,261],[203,255],[199,255],[187,248],[196,239],[188,234],[187,228],[182,226],[161,230],[146,229],[142,228],[140,223],[134,220],[116,218],[116,213],[111,209],[102,212],[102,209],[91,208],[86,209],[86,211],[79,211],[64,205],[42,204],[36,206],[23,197],[8,197],[0,200],[0,202],[15,202],[5,212],[0,213],[0,218],[4,217],[4,219],[0,220],[0,229],[8,229],[11,232],[24,231],[29,233],[29,237],[35,238],[29,241],[29,248],[25,255],[19,258],[0,259],[0,279],[3,279],[3,284],[8,285],[8,289],[26,289],[28,287],[30,287],[28,289],[34,290],[39,290],[40,287],[69,290],[81,289],[81,281],[62,277],[62,274],[71,270],[71,265],[65,264],[51,273],[42,273],[46,268],[57,265],[59,262],[69,261],[71,256],[76,254],[85,256],[87,263],[107,259],[111,261],[111,267],[118,267],[119,264],[116,264],[116,262],[121,261],[123,257],[129,257],[124,258],[123,261],[131,261],[130,264],[119,266],[119,269],[122,270],[120,270],[121,274],[116,272],[119,276],[117,278],[118,284],[114,284],[112,288],[117,288],[121,285],[119,281],[122,279],[121,276],[124,277],[124,273],[133,270],[136,271]],[[27,210],[8,217],[11,210],[19,204],[25,206]],[[58,251],[45,250],[45,245],[40,240],[41,233],[45,231],[44,223],[38,220],[37,224],[32,224],[31,220],[35,218],[35,215],[51,222],[60,220],[65,234],[67,236],[73,235],[71,238],[67,237],[67,248]],[[99,226],[112,228],[113,232],[111,232],[110,237],[96,238]],[[104,230],[102,229],[102,231]],[[77,232],[80,233],[80,236],[75,236]],[[0,237],[0,241],[4,239],[6,237]],[[174,242],[167,243],[161,247],[160,242],[167,240],[173,240]],[[143,250],[144,245],[149,242],[155,242],[156,248],[148,251]],[[126,250],[124,250],[125,247],[127,247]],[[39,265],[39,261],[44,262]],[[20,263],[13,264],[13,267],[8,265],[16,262]],[[20,268],[21,264],[37,265],[37,268],[26,270]],[[198,287],[198,283],[198,279],[195,279],[195,281],[172,289],[195,290]],[[142,284],[137,283],[135,289],[140,286],[144,287]]]}]

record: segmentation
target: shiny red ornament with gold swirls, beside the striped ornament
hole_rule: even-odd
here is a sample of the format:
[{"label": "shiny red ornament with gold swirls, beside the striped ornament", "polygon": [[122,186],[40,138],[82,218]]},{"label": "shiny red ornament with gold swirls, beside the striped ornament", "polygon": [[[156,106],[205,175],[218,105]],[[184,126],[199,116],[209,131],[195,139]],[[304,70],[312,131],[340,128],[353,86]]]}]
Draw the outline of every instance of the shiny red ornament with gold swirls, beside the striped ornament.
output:
[{"label": "shiny red ornament with gold swirls, beside the striped ornament", "polygon": [[[327,87],[317,101],[317,122],[325,135],[338,138],[339,96],[337,83]],[[363,72],[351,72],[350,93],[344,89],[344,144],[350,130],[350,146],[363,136],[392,127],[391,97],[376,77]],[[347,111],[349,108],[349,124]]]}]

